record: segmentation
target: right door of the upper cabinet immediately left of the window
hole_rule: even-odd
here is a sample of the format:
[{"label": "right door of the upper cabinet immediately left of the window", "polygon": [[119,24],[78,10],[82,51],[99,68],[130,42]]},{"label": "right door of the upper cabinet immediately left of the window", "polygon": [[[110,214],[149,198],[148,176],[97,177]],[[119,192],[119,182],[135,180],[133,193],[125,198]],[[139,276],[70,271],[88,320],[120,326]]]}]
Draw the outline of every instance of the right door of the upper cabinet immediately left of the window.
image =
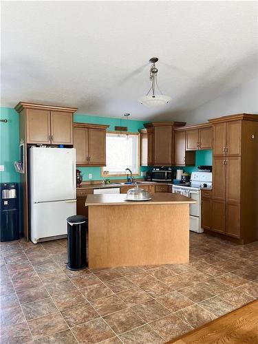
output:
[{"label": "right door of the upper cabinet immediately left of the window", "polygon": [[106,165],[106,131],[89,129],[89,165]]}]

